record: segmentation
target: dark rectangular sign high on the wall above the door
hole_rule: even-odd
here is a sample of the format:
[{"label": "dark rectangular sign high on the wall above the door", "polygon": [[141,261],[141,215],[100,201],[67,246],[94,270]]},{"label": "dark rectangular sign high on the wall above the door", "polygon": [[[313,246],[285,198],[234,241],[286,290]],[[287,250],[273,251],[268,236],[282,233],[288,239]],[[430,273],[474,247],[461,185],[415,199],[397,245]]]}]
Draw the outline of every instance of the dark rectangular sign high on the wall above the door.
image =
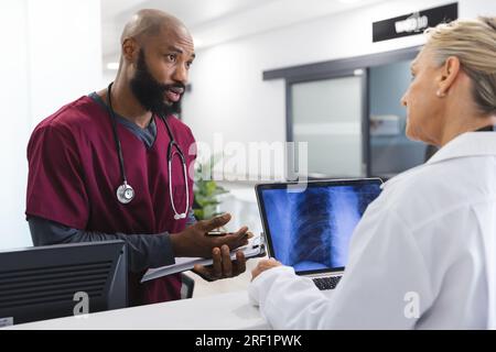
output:
[{"label": "dark rectangular sign high on the wall above the door", "polygon": [[373,41],[380,42],[396,37],[423,33],[430,26],[451,22],[459,18],[459,3],[400,15],[373,23]]}]

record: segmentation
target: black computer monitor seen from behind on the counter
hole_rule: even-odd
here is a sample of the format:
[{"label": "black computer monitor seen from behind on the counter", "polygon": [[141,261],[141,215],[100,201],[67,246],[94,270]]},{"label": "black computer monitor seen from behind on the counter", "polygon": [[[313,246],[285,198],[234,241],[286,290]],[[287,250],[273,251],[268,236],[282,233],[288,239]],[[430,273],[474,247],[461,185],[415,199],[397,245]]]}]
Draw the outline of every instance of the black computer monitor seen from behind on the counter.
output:
[{"label": "black computer monitor seen from behind on the counter", "polygon": [[0,252],[0,324],[126,308],[127,285],[123,241]]}]

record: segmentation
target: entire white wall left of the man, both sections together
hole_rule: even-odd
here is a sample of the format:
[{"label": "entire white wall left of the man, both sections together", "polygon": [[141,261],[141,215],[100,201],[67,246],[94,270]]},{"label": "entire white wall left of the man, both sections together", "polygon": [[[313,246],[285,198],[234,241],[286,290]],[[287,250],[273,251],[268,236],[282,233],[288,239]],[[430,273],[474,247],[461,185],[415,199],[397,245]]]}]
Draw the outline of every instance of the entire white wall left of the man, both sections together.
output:
[{"label": "entire white wall left of the man, both sections together", "polygon": [[0,250],[32,244],[25,148],[34,125],[101,81],[99,0],[0,1]]}]

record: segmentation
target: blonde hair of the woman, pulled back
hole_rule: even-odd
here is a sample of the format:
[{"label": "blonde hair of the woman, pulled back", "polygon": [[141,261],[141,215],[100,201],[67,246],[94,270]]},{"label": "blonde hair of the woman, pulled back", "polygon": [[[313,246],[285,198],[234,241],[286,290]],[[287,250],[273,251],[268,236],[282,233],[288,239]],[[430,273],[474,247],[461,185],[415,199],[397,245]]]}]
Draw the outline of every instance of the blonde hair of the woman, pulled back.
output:
[{"label": "blonde hair of the woman, pulled back", "polygon": [[425,47],[439,66],[456,56],[472,80],[472,95],[482,114],[496,113],[496,18],[457,20],[425,31]]}]

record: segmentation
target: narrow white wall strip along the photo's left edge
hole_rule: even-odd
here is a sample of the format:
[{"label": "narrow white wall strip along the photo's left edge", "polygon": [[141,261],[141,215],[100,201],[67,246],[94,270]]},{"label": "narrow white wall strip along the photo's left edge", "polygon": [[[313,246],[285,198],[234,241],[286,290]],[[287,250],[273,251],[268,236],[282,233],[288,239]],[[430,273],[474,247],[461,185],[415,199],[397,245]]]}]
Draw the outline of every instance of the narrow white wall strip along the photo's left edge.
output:
[{"label": "narrow white wall strip along the photo's left edge", "polygon": [[20,40],[28,35],[25,1],[0,1],[0,31],[4,48],[0,65],[0,249],[6,249],[29,244],[22,218],[28,173],[24,145],[30,127],[28,45]]}]

